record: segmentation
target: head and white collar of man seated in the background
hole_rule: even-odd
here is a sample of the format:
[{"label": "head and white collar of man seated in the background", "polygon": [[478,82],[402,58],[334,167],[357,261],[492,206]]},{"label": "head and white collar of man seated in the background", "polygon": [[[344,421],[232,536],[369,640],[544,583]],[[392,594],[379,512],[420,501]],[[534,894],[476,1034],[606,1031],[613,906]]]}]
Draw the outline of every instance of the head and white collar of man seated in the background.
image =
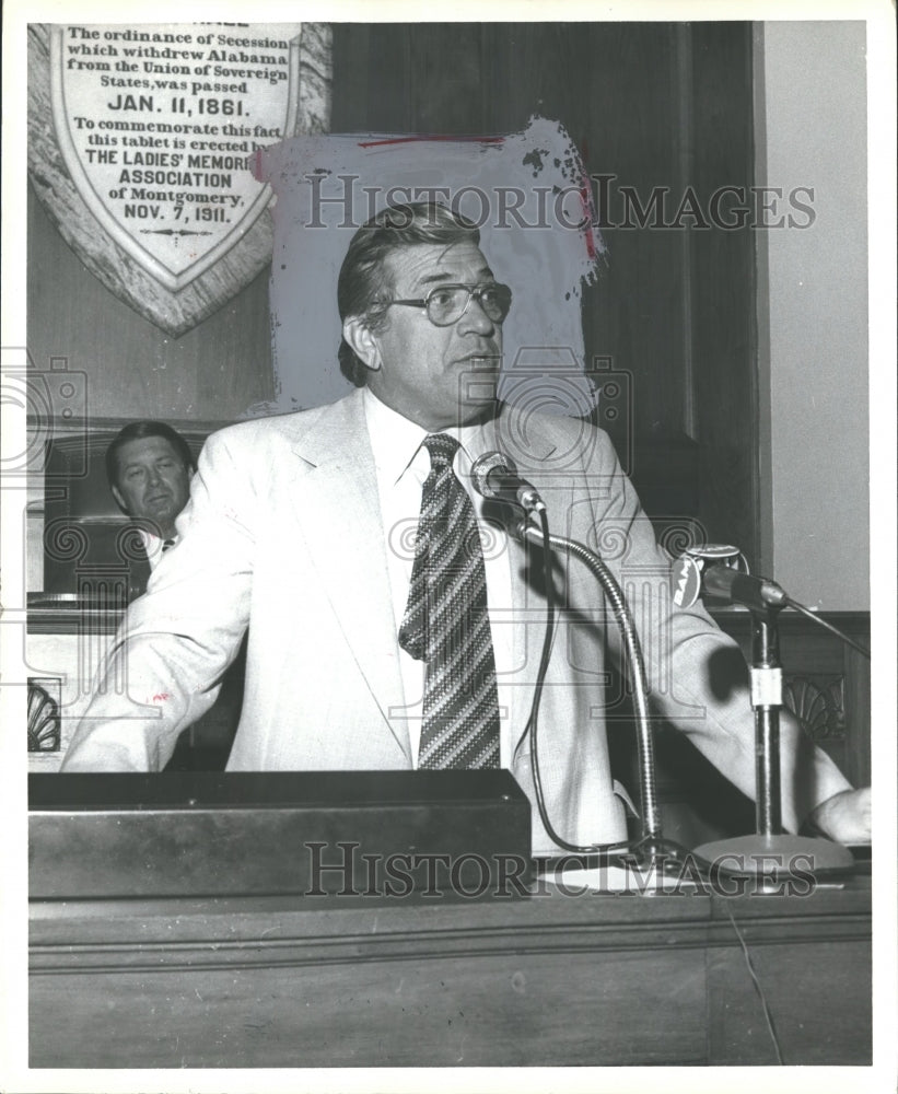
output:
[{"label": "head and white collar of man seated in the background", "polygon": [[132,421],[106,450],[106,478],[123,513],[140,522],[150,570],[178,540],[175,517],[197,469],[184,438],[162,421]]}]

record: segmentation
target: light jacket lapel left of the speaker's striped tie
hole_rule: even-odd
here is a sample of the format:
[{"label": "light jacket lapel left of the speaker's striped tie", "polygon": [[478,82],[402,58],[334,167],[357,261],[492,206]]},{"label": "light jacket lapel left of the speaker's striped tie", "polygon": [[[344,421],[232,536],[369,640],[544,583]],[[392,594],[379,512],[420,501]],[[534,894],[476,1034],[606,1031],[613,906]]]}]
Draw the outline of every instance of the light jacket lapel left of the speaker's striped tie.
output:
[{"label": "light jacket lapel left of the speaker's striped tie", "polygon": [[374,457],[362,393],[320,411],[294,445],[296,517],[347,643],[384,721],[411,763]]}]

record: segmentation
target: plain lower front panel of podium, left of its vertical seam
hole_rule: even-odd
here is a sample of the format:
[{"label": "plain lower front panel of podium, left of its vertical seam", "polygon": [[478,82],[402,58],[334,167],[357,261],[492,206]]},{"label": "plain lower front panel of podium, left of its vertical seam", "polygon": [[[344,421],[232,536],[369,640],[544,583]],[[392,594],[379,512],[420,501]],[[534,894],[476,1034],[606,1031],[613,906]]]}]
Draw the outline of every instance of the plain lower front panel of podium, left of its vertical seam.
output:
[{"label": "plain lower front panel of podium, left of its vertical seam", "polygon": [[[61,1019],[38,1067],[562,1067],[699,1063],[704,977],[689,950],[656,951],[678,1004],[651,1040],[639,954],[362,961],[37,977],[34,1014]],[[571,999],[600,1037],[571,1021]],[[109,1012],[115,1021],[108,1020]],[[155,1017],[159,1015],[160,1017]],[[300,1021],[298,1021],[300,1020]],[[42,1024],[43,1028],[47,1028]],[[137,1031],[143,1031],[136,1036]],[[396,1036],[396,1034],[399,1034]],[[37,1038],[36,1038],[37,1039]]]}]

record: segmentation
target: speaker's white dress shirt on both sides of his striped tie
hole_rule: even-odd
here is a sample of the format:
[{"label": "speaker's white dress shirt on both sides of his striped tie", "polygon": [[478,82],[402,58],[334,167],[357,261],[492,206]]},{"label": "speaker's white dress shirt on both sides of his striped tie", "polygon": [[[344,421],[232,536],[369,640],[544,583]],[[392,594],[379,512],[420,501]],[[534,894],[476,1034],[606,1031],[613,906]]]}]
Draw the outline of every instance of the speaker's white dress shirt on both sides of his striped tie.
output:
[{"label": "speaker's white dress shirt on both sides of his striped tie", "polygon": [[[423,661],[416,661],[398,644],[399,626],[406,614],[411,570],[415,562],[415,534],[421,512],[421,490],[430,473],[430,455],[422,446],[428,430],[385,406],[368,388],[364,389],[364,408],[374,464],[381,517],[386,544],[389,586],[393,596],[399,668],[403,677],[406,707],[389,710],[389,717],[406,721],[411,755],[418,766],[421,741],[421,707],[424,694]],[[504,528],[482,519],[483,499],[470,484],[474,461],[490,451],[482,426],[462,426],[439,430],[454,437],[460,444],[455,455],[453,470],[474,505],[480,526],[483,563],[487,577],[487,602],[495,657],[495,682],[499,697],[500,764],[511,766],[512,726],[509,722],[511,689],[508,683],[513,670],[512,654],[512,585],[509,566],[509,545]],[[520,729],[523,729],[520,728]]]}]

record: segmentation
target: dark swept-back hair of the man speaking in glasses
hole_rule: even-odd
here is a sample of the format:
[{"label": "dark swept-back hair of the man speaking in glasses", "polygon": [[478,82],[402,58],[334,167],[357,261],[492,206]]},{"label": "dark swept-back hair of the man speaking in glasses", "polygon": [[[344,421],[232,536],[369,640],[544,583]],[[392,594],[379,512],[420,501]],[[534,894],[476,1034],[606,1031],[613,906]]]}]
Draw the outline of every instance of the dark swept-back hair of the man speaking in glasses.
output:
[{"label": "dark swept-back hair of the man speaking in glasses", "polygon": [[[362,224],[352,236],[337,280],[340,321],[364,315],[377,330],[386,317],[395,291],[386,270],[386,258],[403,247],[419,244],[480,243],[480,232],[460,213],[435,201],[389,206]],[[357,387],[364,387],[368,369],[343,338],[338,350],[340,371]]]}]

